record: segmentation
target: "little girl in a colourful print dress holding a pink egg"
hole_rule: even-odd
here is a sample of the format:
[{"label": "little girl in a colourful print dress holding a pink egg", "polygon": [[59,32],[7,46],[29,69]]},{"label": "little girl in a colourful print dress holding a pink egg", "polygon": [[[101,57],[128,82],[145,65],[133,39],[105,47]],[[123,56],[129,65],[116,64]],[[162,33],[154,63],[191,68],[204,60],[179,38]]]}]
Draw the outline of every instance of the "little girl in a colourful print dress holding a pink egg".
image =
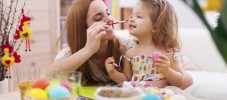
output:
[{"label": "little girl in a colourful print dress holding a pink egg", "polygon": [[[157,87],[173,85],[182,89],[190,86],[191,76],[176,59],[180,52],[177,29],[177,17],[168,1],[140,0],[129,20],[129,32],[138,38],[138,44],[126,51],[123,74],[114,69],[113,58],[106,60],[109,76],[117,83],[146,81]],[[158,58],[152,59],[154,56]]]}]

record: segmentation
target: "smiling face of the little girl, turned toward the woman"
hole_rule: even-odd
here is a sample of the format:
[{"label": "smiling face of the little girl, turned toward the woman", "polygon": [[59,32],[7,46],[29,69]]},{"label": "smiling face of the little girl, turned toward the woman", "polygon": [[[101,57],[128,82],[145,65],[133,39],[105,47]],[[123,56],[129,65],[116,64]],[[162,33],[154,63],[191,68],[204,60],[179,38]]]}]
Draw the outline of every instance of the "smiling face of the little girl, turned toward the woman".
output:
[{"label": "smiling face of the little girl, turned toward the woman", "polygon": [[149,16],[149,10],[140,2],[133,8],[129,20],[129,32],[136,37],[140,37],[151,34],[152,30],[153,25]]}]

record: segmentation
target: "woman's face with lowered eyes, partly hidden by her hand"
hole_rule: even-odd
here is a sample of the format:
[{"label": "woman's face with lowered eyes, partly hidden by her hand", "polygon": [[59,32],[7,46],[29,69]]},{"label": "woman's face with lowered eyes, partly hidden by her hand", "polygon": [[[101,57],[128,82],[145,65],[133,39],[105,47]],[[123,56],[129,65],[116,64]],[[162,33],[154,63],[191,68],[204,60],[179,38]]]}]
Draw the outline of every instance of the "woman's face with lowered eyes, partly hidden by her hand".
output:
[{"label": "woman's face with lowered eyes, partly hidden by her hand", "polygon": [[[110,12],[107,6],[101,0],[94,0],[91,2],[87,14],[87,25],[90,27],[96,22],[108,23],[112,19],[109,16]],[[111,40],[115,37],[112,27],[106,30],[107,34],[102,37],[102,40]]]}]

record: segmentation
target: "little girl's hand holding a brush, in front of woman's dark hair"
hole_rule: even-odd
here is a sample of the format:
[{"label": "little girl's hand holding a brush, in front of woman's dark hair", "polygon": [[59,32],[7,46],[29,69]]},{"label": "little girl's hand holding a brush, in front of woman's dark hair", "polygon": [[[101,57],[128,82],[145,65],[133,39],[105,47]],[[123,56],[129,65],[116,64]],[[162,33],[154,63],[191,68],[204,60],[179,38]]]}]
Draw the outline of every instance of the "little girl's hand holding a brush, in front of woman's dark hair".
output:
[{"label": "little girl's hand holding a brush, in front of woman's dark hair", "polygon": [[113,59],[113,57],[109,57],[105,61],[105,67],[108,74],[111,74],[111,72],[115,70],[113,63],[115,63],[115,60]]}]

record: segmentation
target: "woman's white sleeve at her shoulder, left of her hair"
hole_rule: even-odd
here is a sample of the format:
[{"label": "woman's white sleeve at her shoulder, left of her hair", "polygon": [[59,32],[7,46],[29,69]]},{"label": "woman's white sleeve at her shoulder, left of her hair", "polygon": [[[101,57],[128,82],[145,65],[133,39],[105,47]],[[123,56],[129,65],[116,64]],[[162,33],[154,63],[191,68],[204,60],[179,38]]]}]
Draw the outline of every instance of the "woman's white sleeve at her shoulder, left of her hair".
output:
[{"label": "woman's white sleeve at her shoulder, left of her hair", "polygon": [[59,51],[59,53],[57,54],[57,56],[55,57],[54,60],[60,60],[66,57],[69,57],[71,55],[71,51],[69,47],[65,47],[63,49],[61,49],[61,51]]}]

